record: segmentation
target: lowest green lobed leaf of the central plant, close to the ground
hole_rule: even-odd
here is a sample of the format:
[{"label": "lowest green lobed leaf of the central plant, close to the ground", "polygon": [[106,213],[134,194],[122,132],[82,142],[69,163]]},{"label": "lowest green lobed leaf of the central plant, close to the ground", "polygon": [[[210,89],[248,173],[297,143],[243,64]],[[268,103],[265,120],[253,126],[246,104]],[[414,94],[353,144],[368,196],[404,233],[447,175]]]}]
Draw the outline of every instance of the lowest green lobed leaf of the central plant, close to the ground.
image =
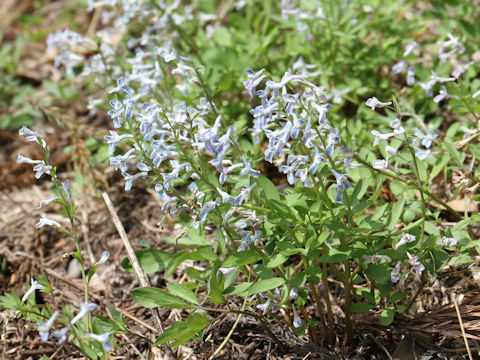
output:
[{"label": "lowest green lobed leaf of the central plant, close to the ground", "polygon": [[210,324],[208,316],[204,314],[192,314],[187,320],[175,323],[165,330],[155,341],[155,345],[165,344],[176,340],[172,347],[182,345],[191,340],[195,335]]}]

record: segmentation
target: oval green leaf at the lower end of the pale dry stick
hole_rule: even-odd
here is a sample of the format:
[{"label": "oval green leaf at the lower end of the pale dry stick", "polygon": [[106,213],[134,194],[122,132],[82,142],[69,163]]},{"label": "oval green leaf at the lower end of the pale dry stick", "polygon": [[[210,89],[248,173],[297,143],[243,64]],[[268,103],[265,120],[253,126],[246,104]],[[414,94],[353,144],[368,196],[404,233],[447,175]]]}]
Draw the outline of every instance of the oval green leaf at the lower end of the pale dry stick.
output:
[{"label": "oval green leaf at the lower end of the pale dry stick", "polygon": [[130,292],[131,298],[146,308],[157,306],[171,309],[192,309],[193,306],[177,296],[173,296],[163,290],[151,287],[136,288]]}]

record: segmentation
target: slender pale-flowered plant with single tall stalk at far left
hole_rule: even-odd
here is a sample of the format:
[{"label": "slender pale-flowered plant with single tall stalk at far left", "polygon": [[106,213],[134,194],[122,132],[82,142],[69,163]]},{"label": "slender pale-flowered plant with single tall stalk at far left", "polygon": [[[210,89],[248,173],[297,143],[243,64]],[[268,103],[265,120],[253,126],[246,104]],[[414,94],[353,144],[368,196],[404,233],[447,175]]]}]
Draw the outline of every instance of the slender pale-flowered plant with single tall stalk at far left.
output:
[{"label": "slender pale-flowered plant with single tall stalk at far left", "polygon": [[[50,147],[47,145],[43,136],[37,132],[23,126],[19,134],[26,136],[28,141],[37,142],[43,153],[43,160],[33,160],[18,154],[17,162],[20,164],[32,164],[36,172],[35,178],[40,179],[43,175],[49,176],[53,185],[54,197],[40,202],[35,208],[37,210],[49,206],[52,203],[58,203],[62,206],[62,214],[69,222],[69,226],[60,224],[58,221],[48,219],[44,215],[35,225],[37,229],[43,226],[53,226],[58,231],[69,238],[75,244],[75,251],[67,254],[74,261],[80,264],[80,271],[84,286],[84,297],[79,300],[79,311],[74,316],[74,310],[67,305],[62,307],[62,311],[55,310],[50,304],[37,303],[35,292],[41,290],[45,293],[52,292],[52,288],[46,276],[39,279],[31,279],[31,285],[22,298],[12,292],[0,297],[0,305],[6,309],[14,309],[17,315],[24,316],[30,321],[37,323],[39,335],[42,341],[48,341],[49,338],[57,344],[62,344],[71,340],[84,354],[90,359],[97,359],[99,356],[105,358],[106,354],[113,349],[110,342],[112,333],[127,333],[125,323],[121,314],[114,308],[109,307],[113,320],[105,317],[92,318],[90,312],[98,307],[98,304],[89,302],[89,283],[95,275],[99,266],[106,263],[110,254],[108,251],[102,253],[101,258],[92,264],[86,271],[86,264],[80,248],[79,236],[75,225],[75,214],[77,205],[75,204],[70,190],[69,181],[61,182],[57,176],[57,168],[50,163]],[[68,229],[69,228],[69,229]],[[51,331],[54,327],[61,325]]]}]

